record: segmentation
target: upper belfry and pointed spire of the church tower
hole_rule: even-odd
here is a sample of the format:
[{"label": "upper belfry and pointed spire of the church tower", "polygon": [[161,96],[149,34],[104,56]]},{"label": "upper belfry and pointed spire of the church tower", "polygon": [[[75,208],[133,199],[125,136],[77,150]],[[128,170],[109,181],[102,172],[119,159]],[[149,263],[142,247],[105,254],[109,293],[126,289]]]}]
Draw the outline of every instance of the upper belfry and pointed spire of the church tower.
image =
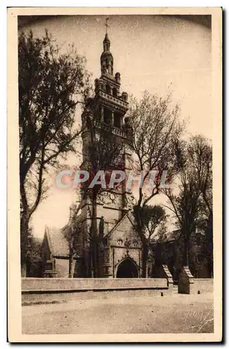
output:
[{"label": "upper belfry and pointed spire of the church tower", "polygon": [[[88,98],[84,112],[81,114],[82,125],[86,127],[83,134],[83,163],[86,161],[86,145],[91,137],[88,124],[93,126],[93,133],[100,133],[102,124],[109,125],[113,135],[124,141],[131,137],[128,110],[128,94],[120,94],[120,73],[113,74],[113,55],[109,40],[106,18],[106,33],[103,40],[103,51],[100,56],[101,75],[95,79],[95,96]],[[125,167],[125,166],[124,166]]]}]

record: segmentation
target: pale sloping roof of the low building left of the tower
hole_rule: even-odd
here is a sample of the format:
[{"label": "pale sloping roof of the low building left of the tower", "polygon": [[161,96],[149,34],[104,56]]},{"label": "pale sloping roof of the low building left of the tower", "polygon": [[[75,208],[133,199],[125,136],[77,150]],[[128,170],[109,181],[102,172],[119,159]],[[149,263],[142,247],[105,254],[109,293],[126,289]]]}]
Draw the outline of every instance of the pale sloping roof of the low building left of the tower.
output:
[{"label": "pale sloping roof of the low building left of the tower", "polygon": [[58,257],[68,257],[69,244],[68,240],[65,238],[65,233],[68,229],[70,229],[70,226],[68,225],[62,229],[50,227],[45,228],[45,233],[47,235],[47,240],[52,255]]}]

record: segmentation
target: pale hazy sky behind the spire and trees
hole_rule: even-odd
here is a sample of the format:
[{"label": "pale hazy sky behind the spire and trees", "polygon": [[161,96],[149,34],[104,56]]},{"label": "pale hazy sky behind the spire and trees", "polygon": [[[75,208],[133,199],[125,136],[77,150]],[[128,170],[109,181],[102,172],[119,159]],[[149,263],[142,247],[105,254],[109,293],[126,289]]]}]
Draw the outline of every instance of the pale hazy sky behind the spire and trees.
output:
[{"label": "pale hazy sky behind the spire and trees", "polygon": [[[30,22],[23,30],[32,29],[34,36],[43,36],[48,29],[63,52],[74,43],[77,52],[86,56],[86,68],[94,80],[100,77],[105,19],[102,15],[51,16]],[[187,135],[202,133],[212,138],[209,27],[182,16],[111,15],[109,39],[114,73],[121,75],[120,91],[136,98],[145,90],[162,97],[172,93],[174,103],[180,104],[181,119],[189,120]],[[72,156],[68,159],[70,166],[77,162],[79,159]],[[34,235],[43,237],[45,225],[62,228],[68,223],[74,200],[72,191],[51,187],[48,198],[33,214]]]}]

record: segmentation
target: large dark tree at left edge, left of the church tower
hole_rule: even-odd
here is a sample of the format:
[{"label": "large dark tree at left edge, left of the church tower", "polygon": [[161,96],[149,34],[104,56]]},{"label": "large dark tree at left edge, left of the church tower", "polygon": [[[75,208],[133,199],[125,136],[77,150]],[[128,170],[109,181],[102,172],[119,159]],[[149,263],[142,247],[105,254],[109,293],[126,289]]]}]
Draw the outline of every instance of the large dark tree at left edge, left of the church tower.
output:
[{"label": "large dark tree at left edge, left of the church tower", "polygon": [[74,47],[61,54],[47,31],[43,38],[34,38],[32,31],[19,34],[22,263],[28,250],[29,220],[45,194],[45,172],[74,151],[81,133],[74,114],[90,90],[85,64]]}]

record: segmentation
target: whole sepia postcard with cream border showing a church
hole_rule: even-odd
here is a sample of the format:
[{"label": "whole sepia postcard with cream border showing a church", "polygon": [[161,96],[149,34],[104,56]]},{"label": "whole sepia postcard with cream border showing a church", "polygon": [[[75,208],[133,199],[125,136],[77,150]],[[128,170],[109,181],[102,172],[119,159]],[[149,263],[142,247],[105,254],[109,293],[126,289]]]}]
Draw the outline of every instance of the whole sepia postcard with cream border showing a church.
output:
[{"label": "whole sepia postcard with cream border showing a church", "polygon": [[10,341],[221,341],[221,8],[8,28]]}]

